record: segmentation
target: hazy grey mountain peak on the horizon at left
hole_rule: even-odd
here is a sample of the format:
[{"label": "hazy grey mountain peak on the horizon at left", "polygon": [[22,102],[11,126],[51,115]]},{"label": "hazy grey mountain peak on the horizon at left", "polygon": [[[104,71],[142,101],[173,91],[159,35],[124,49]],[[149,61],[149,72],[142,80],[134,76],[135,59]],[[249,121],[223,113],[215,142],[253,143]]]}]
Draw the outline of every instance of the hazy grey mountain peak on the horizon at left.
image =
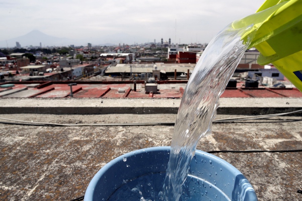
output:
[{"label": "hazy grey mountain peak on the horizon at left", "polygon": [[38,30],[33,30],[24,36],[20,36],[17,38],[13,38],[7,41],[0,41],[0,47],[15,47],[16,42],[19,42],[21,47],[27,46],[40,46],[40,42],[42,43],[42,47],[44,46],[66,46],[72,44],[69,39],[66,38],[58,38],[46,35]]}]

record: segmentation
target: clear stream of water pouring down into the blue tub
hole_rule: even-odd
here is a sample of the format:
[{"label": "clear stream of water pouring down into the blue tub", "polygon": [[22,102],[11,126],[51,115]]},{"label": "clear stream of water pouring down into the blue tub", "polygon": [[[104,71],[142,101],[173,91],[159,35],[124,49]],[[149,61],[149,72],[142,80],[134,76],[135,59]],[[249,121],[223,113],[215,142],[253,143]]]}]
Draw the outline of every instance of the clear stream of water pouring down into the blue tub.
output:
[{"label": "clear stream of water pouring down into the blue tub", "polygon": [[160,192],[162,200],[178,201],[182,196],[182,184],[197,143],[211,131],[218,98],[253,38],[250,34],[248,41],[243,42],[241,36],[251,27],[224,28],[211,40],[196,64],[179,107],[167,175]]}]

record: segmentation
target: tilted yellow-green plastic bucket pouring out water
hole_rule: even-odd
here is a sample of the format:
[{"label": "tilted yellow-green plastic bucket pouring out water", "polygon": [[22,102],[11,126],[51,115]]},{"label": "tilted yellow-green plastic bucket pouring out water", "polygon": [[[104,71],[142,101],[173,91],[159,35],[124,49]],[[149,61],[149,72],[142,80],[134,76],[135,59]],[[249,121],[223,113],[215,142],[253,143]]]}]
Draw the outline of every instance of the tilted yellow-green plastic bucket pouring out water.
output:
[{"label": "tilted yellow-green plastic bucket pouring out water", "polygon": [[255,14],[232,25],[235,29],[253,25],[242,38],[255,35],[249,48],[261,53],[257,62],[272,63],[302,91],[302,0],[267,0]]}]

